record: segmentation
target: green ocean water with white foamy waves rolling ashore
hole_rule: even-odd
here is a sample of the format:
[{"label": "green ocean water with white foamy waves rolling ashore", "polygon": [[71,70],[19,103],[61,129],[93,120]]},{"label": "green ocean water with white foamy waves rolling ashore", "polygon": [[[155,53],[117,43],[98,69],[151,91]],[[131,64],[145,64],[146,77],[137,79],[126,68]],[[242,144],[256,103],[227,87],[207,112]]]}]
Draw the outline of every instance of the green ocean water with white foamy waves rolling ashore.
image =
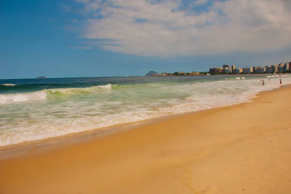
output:
[{"label": "green ocean water with white foamy waves rolling ashore", "polygon": [[291,83],[290,75],[2,79],[0,146],[250,102],[279,78]]}]

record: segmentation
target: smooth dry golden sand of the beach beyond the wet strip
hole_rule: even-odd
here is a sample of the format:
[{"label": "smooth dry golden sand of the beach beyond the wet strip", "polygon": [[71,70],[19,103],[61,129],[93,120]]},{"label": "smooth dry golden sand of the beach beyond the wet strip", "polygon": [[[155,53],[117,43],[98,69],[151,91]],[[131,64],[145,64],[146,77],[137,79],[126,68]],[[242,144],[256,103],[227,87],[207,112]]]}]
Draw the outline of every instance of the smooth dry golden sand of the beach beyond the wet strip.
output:
[{"label": "smooth dry golden sand of the beach beyond the wet strip", "polygon": [[291,194],[291,88],[0,160],[0,194]]}]

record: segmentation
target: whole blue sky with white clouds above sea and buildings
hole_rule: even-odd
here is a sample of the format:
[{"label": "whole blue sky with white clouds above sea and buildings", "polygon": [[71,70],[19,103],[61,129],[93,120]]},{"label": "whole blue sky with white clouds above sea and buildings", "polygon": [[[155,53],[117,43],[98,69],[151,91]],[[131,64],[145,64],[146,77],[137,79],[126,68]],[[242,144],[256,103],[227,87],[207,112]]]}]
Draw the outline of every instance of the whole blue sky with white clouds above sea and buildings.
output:
[{"label": "whole blue sky with white clouds above sea and buildings", "polygon": [[0,0],[0,79],[291,61],[291,0]]}]

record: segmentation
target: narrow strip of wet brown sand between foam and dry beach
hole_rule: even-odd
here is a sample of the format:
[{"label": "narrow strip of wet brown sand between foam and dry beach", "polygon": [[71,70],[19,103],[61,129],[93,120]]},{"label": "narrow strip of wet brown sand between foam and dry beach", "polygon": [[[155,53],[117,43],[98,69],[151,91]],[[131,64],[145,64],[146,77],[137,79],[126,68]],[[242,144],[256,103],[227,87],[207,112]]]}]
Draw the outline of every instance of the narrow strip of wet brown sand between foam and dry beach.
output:
[{"label": "narrow strip of wet brown sand between foam and dry beach", "polygon": [[76,132],[76,133],[64,134],[61,136],[53,136],[53,137],[40,139],[40,140],[32,140],[32,141],[27,141],[27,142],[0,146],[0,160],[7,157],[14,156],[14,155],[26,154],[27,152],[29,152],[30,149],[43,150],[43,149],[55,148],[58,146],[72,145],[75,143],[80,143],[80,142],[88,141],[91,139],[102,138],[104,136],[115,134],[115,133],[122,133],[124,131],[134,130],[135,128],[142,127],[144,125],[158,123],[167,119],[173,119],[173,118],[181,117],[184,115],[198,114],[200,112],[208,111],[212,109],[220,109],[220,108],[231,107],[231,106],[236,106],[240,104],[253,103],[254,102],[253,99],[258,98],[260,93],[280,90],[282,88],[289,88],[289,87],[291,87],[291,84],[285,84],[273,90],[260,91],[258,94],[256,94],[255,97],[249,99],[249,102],[242,102],[239,104],[232,104],[232,105],[223,106],[223,107],[215,107],[215,108],[199,110],[199,111],[194,111],[194,112],[172,114],[172,115],[162,116],[158,118],[140,120],[136,122],[120,123],[120,124],[116,124],[116,125],[112,125],[108,127],[102,127],[102,128],[91,129],[91,130],[86,130],[86,131],[81,131],[81,132]]}]

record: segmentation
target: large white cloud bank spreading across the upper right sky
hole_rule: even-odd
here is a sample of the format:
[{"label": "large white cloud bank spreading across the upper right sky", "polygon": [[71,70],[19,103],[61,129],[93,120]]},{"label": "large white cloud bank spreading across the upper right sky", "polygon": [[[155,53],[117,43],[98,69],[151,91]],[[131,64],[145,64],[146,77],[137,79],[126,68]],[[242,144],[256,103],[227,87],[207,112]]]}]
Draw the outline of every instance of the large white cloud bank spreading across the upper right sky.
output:
[{"label": "large white cloud bank spreading across the upper right sky", "polygon": [[192,0],[188,7],[183,0],[76,1],[89,18],[82,37],[113,52],[178,56],[291,46],[290,0]]}]

